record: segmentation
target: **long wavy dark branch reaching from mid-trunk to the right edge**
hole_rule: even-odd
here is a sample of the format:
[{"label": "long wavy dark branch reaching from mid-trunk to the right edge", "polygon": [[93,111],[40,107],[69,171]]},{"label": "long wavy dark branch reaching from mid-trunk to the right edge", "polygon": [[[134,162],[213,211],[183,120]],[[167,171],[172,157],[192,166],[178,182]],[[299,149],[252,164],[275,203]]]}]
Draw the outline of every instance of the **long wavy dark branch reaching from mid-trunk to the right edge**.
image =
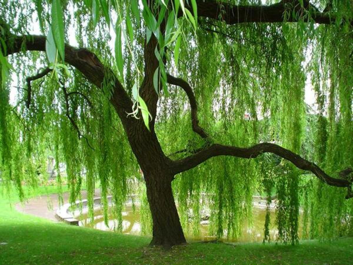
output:
[{"label": "long wavy dark branch reaching from mid-trunk to the right edge", "polygon": [[[292,151],[289,151],[288,149],[283,148],[281,146],[275,145],[274,143],[259,143],[249,148],[214,144],[204,148],[202,151],[196,154],[190,155],[189,157],[180,160],[175,160],[173,162],[173,172],[175,174],[184,172],[186,170],[192,169],[193,167],[196,167],[197,165],[203,163],[211,157],[217,157],[220,155],[230,155],[233,157],[250,159],[256,158],[258,155],[263,153],[274,153],[276,155],[279,155],[280,157],[291,161],[299,169],[311,171],[315,176],[317,176],[319,179],[321,179],[328,185],[336,187],[348,187],[348,195],[346,196],[346,198],[348,199],[351,198],[350,196],[353,196],[351,193],[349,193],[349,189],[352,185],[352,182],[350,180],[330,177],[316,164],[307,161],[306,159],[301,158],[299,155],[293,153]],[[346,172],[342,174],[346,174]]]}]

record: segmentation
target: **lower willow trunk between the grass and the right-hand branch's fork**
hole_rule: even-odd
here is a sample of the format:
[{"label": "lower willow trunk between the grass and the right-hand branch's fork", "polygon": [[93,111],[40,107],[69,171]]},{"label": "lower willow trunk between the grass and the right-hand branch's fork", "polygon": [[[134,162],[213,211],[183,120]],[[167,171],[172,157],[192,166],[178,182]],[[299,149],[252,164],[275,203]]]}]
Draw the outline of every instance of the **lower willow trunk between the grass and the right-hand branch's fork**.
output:
[{"label": "lower willow trunk between the grass and the right-hand branch's fork", "polygon": [[174,176],[163,170],[145,175],[147,199],[153,221],[151,246],[162,245],[170,248],[186,243],[172,193],[173,178]]}]

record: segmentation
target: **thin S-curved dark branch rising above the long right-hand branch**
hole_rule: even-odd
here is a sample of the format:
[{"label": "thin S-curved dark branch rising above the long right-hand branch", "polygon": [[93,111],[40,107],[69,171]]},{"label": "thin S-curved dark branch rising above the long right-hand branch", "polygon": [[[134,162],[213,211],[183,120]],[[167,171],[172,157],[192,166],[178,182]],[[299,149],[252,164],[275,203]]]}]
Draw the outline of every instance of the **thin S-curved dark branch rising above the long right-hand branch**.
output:
[{"label": "thin S-curved dark branch rising above the long right-hand branch", "polygon": [[191,107],[191,122],[192,122],[192,130],[195,131],[202,138],[207,138],[208,135],[205,133],[204,129],[198,125],[199,120],[197,118],[197,103],[195,99],[195,95],[190,87],[189,83],[181,78],[174,77],[172,75],[167,74],[167,83],[181,87],[187,97],[189,98],[190,107]]}]

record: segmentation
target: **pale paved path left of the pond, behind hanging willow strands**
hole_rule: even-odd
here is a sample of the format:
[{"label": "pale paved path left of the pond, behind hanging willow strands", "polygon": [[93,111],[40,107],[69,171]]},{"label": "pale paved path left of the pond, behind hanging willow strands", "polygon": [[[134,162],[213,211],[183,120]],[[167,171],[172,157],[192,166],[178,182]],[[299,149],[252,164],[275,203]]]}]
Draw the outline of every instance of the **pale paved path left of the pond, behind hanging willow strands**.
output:
[{"label": "pale paved path left of the pond, behind hanging willow strands", "polygon": [[[81,192],[82,199],[87,198],[87,192],[83,190]],[[101,192],[100,189],[95,189],[95,197],[100,197]],[[65,192],[62,194],[62,198],[64,200],[64,204],[68,203],[70,193]],[[35,216],[39,216],[42,218],[46,218],[55,222],[59,222],[55,217],[55,212],[59,208],[59,195],[58,194],[50,194],[50,195],[42,195],[36,198],[29,199],[25,203],[16,204],[16,210],[19,212],[23,212],[26,214],[32,214]]]}]

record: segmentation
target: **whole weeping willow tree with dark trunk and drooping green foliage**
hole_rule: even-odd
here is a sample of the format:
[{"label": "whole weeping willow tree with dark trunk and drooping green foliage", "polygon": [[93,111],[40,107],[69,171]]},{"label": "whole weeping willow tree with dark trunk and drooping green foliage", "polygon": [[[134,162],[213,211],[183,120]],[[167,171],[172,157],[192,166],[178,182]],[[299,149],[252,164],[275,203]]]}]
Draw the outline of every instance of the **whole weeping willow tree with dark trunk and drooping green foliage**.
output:
[{"label": "whole weeping willow tree with dark trunk and drooping green foliage", "polygon": [[204,192],[211,232],[237,237],[252,194],[270,202],[274,188],[280,240],[298,240],[301,204],[306,235],[327,222],[349,234],[352,21],[351,0],[1,1],[1,178],[23,197],[53,154],[70,200],[86,181],[92,209],[99,179],[120,227],[130,180],[144,179],[151,245],[184,243]]}]

